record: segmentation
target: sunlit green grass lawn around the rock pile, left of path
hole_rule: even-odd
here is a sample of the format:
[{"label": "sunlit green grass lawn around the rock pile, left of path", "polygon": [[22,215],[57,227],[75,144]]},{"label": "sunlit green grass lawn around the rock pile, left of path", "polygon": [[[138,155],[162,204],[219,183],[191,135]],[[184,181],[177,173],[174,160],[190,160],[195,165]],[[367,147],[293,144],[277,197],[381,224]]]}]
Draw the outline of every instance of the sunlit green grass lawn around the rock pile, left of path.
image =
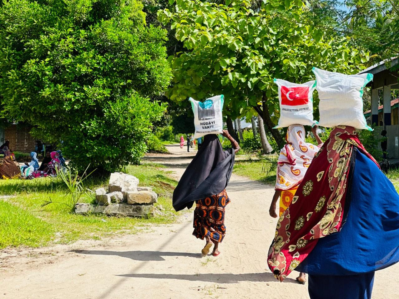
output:
[{"label": "sunlit green grass lawn around the rock pile, left of path", "polygon": [[[78,239],[101,239],[115,233],[136,233],[144,224],[167,224],[177,215],[172,207],[172,193],[177,182],[162,171],[162,165],[145,163],[130,165],[125,172],[136,176],[140,186],[150,186],[158,193],[158,203],[164,216],[148,218],[107,217],[105,215],[77,215],[65,197],[66,187],[58,178],[34,180],[0,180],[0,248],[8,246],[43,246],[49,243],[69,243]],[[88,179],[86,187],[105,187],[107,180]],[[44,201],[54,202],[41,207]],[[79,202],[93,203],[89,194]]]}]

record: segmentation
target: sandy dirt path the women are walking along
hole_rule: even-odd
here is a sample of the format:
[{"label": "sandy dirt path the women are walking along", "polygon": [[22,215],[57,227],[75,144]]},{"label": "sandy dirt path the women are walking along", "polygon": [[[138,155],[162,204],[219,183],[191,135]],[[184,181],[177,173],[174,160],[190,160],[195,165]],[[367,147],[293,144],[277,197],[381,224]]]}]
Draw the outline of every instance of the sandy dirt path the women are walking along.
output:
[{"label": "sandy dirt path the women are walking along", "polygon": [[[146,157],[179,178],[195,152],[168,146],[170,154]],[[202,257],[204,242],[192,236],[192,210],[150,232],[81,241],[35,250],[0,252],[4,299],[308,299],[293,272],[283,283],[266,264],[276,220],[268,214],[273,187],[232,175],[227,193],[227,234],[218,257]],[[373,299],[397,299],[399,266],[375,276]]]}]

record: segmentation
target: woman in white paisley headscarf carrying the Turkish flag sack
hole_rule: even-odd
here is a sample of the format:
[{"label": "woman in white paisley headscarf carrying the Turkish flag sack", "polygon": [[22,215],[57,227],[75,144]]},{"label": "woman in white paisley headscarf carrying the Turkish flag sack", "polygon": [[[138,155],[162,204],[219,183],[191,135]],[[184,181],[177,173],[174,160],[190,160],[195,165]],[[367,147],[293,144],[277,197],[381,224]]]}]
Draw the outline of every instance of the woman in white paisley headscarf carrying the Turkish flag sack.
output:
[{"label": "woman in white paisley headscarf carrying the Turkish flag sack", "polygon": [[[279,216],[281,216],[291,204],[298,185],[302,181],[314,155],[316,155],[323,144],[316,130],[317,126],[314,126],[312,132],[319,144],[318,146],[306,143],[306,131],[304,126],[293,124],[288,127],[285,137],[287,144],[281,149],[277,161],[276,191],[269,209],[270,216],[277,218],[276,205],[279,198]],[[305,277],[305,273],[300,273],[296,281],[304,284],[306,281]]]}]

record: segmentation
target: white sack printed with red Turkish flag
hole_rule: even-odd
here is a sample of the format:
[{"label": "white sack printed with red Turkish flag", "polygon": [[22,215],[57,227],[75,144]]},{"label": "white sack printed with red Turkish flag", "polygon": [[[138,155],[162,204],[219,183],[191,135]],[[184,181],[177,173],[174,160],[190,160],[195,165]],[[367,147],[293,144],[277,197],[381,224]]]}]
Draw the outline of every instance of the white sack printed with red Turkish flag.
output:
[{"label": "white sack printed with red Turkish flag", "polygon": [[281,79],[274,79],[279,87],[280,118],[275,128],[288,127],[292,124],[313,126],[317,121],[313,119],[313,90],[316,81],[303,84],[291,83]]}]

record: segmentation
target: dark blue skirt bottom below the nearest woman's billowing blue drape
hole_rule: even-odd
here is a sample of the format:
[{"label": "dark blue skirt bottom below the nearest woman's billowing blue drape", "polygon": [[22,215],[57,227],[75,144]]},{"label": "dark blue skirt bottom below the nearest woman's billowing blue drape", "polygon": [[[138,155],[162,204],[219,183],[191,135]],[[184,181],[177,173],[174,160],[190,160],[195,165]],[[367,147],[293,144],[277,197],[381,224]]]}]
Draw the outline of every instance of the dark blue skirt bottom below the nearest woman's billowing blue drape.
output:
[{"label": "dark blue skirt bottom below the nearest woman's billowing blue drape", "polygon": [[371,299],[374,272],[357,275],[309,275],[310,299]]}]

